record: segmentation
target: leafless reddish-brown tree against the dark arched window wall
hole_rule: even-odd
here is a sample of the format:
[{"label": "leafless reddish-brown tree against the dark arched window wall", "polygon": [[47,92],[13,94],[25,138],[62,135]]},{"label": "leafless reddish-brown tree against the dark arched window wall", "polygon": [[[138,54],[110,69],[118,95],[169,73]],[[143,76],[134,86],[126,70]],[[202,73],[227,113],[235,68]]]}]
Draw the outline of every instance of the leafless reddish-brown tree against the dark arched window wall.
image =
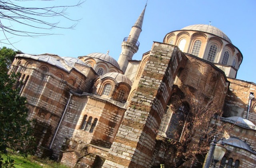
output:
[{"label": "leafless reddish-brown tree against the dark arched window wall", "polygon": [[199,158],[203,164],[210,141],[224,127],[211,123],[211,120],[218,122],[218,116],[222,115],[216,95],[206,95],[203,90],[197,88],[182,87],[180,93],[172,95],[167,109],[171,116],[170,127],[166,132],[167,138],[162,140],[166,141],[166,151],[175,161],[164,163],[165,168],[178,168],[188,160],[200,162]]}]

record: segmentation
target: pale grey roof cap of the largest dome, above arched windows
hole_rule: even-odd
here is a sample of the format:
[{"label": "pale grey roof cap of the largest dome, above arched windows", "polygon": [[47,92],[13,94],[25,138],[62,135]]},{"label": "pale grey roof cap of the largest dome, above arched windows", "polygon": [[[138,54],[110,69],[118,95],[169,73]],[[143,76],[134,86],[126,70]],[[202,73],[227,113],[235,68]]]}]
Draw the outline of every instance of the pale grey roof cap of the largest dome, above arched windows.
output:
[{"label": "pale grey roof cap of the largest dome, above arched windows", "polygon": [[222,32],[220,29],[211,26],[211,25],[207,25],[207,24],[194,24],[191,26],[186,26],[180,30],[196,30],[196,31],[200,31],[200,32],[206,32],[206,33],[210,33],[210,34],[214,34],[216,36],[219,36],[221,38],[223,38],[224,40],[227,40],[228,42],[231,42],[231,40],[228,38],[228,36]]}]

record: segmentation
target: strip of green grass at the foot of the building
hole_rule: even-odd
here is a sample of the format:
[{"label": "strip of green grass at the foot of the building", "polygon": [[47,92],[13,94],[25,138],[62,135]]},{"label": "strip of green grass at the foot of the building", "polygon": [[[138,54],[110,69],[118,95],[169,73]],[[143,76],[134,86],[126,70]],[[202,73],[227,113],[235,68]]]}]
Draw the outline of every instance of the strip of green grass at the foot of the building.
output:
[{"label": "strip of green grass at the foot of the building", "polygon": [[[4,160],[6,160],[6,156],[2,155]],[[14,161],[15,168],[68,168],[63,164],[55,162],[54,160],[40,159],[36,156],[28,156],[28,158],[24,158],[22,156],[11,155],[11,158]]]}]

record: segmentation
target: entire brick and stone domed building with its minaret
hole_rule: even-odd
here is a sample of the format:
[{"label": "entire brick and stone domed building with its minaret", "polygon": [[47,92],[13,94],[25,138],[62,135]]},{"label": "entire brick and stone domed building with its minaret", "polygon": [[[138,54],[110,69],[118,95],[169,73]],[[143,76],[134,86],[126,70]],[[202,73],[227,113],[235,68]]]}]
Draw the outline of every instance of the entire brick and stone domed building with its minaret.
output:
[{"label": "entire brick and stone domed building with its minaret", "polygon": [[211,130],[226,147],[216,167],[256,167],[256,84],[236,79],[240,50],[220,29],[196,24],[132,60],[145,10],[118,61],[108,52],[16,55],[10,72],[20,72],[36,155],[70,167],[202,167],[207,151],[188,158],[169,142],[200,146]]}]

